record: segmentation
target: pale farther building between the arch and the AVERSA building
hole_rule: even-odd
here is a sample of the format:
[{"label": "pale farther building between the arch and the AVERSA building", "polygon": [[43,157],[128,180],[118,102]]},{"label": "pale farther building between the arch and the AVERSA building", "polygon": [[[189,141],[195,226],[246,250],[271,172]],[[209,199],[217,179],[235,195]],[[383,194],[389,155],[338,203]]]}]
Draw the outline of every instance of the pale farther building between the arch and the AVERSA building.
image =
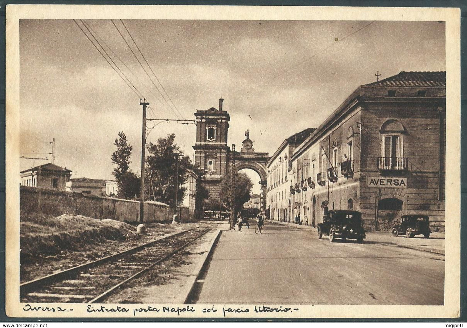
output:
[{"label": "pale farther building between the arch and the AVERSA building", "polygon": [[291,203],[290,198],[292,190],[290,180],[292,162],[290,156],[296,147],[309,137],[314,130],[308,128],[288,137],[269,158],[266,165],[268,170],[266,206],[269,210],[269,218],[272,220],[290,222],[291,209],[295,205]]}]

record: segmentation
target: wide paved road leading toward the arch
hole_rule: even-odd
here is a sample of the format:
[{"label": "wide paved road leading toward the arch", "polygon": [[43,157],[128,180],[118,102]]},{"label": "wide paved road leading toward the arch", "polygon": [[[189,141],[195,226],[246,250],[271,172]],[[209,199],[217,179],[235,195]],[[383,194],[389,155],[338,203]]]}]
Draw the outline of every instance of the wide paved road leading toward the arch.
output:
[{"label": "wide paved road leading toward the arch", "polygon": [[442,255],[268,224],[262,235],[222,232],[196,302],[443,305],[444,264]]}]

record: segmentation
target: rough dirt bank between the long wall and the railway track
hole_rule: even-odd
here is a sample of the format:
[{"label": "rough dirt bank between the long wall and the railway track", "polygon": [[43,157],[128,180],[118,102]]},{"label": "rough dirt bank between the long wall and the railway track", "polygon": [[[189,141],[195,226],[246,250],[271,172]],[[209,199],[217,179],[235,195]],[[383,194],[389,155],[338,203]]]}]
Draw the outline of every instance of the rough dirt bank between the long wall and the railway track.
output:
[{"label": "rough dirt bank between the long wall and the railway track", "polygon": [[145,224],[147,234],[141,236],[136,234],[136,226],[108,219],[62,215],[37,221],[21,222],[21,283],[205,225],[149,223]]}]

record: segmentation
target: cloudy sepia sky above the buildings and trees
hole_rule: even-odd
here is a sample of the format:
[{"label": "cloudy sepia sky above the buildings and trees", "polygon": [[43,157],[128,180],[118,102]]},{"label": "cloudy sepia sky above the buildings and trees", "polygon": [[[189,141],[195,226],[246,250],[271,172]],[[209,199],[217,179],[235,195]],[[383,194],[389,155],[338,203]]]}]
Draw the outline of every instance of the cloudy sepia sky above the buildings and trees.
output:
[{"label": "cloudy sepia sky above the buildings and trees", "polygon": [[[113,22],[85,20],[150,102],[149,118],[194,119],[197,109],[217,108],[222,96],[229,145],[241,146],[249,129],[255,150],[271,154],[286,137],[317,127],[358,86],[374,82],[376,71],[385,78],[446,69],[445,24],[438,21]],[[50,152],[46,143],[55,138],[56,164],[72,177],[112,178],[113,141],[124,131],[133,145],[132,169],[139,171],[139,102],[73,20],[20,20],[22,155]],[[164,122],[149,131],[148,142],[175,133],[193,155],[194,125]],[[33,161],[20,164],[23,170]]]}]

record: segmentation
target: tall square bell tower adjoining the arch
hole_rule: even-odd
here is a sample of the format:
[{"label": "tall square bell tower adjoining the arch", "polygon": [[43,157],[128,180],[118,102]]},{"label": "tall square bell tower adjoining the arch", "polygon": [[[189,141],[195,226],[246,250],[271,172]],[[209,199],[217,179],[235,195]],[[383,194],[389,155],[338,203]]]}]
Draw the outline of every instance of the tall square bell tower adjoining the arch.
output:
[{"label": "tall square bell tower adjoining the arch", "polygon": [[227,132],[230,116],[223,110],[224,99],[219,99],[219,109],[214,107],[197,110],[195,164],[204,171],[203,184],[209,190],[210,198],[219,199],[219,184],[227,172],[228,154]]}]

